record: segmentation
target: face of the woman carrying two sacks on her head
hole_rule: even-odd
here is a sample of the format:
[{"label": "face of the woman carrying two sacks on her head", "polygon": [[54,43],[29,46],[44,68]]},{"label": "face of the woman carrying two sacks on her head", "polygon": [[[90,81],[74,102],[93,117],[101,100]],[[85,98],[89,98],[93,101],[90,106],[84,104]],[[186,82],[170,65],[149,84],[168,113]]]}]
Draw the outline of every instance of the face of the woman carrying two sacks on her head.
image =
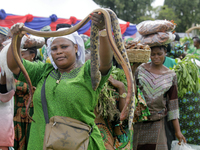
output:
[{"label": "face of the woman carrying two sacks on her head", "polygon": [[165,60],[165,50],[160,47],[151,48],[151,61],[154,65],[161,65]]}]

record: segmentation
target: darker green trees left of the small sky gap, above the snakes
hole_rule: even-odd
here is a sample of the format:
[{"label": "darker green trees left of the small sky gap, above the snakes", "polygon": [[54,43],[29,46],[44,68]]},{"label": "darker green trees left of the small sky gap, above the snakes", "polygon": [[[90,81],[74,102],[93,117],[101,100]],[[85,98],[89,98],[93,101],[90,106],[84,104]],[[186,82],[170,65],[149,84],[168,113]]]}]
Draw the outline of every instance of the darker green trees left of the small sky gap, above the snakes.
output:
[{"label": "darker green trees left of the small sky gap, above the snakes", "polygon": [[138,24],[144,19],[153,19],[151,17],[154,0],[94,0],[104,8],[113,10],[118,18],[125,21]]}]

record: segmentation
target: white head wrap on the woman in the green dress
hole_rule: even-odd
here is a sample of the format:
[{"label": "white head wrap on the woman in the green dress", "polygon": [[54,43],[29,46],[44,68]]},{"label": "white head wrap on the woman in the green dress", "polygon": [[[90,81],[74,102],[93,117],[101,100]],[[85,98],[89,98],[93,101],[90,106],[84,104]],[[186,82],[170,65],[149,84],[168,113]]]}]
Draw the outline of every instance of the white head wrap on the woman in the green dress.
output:
[{"label": "white head wrap on the woman in the green dress", "polygon": [[[65,29],[68,29],[68,28],[60,28],[60,29],[58,29],[58,31],[65,30]],[[47,40],[47,45],[48,45],[47,54],[49,56],[51,64],[54,66],[54,68],[57,69],[58,67],[56,66],[56,64],[53,61],[53,58],[51,56],[51,44],[56,38],[60,38],[60,37],[66,38],[66,39],[72,41],[74,44],[78,45],[76,60],[77,60],[78,64],[84,64],[85,63],[85,47],[84,47],[83,39],[78,34],[78,32],[73,32],[72,34],[69,34],[69,35],[59,36],[59,37],[51,37]]]}]

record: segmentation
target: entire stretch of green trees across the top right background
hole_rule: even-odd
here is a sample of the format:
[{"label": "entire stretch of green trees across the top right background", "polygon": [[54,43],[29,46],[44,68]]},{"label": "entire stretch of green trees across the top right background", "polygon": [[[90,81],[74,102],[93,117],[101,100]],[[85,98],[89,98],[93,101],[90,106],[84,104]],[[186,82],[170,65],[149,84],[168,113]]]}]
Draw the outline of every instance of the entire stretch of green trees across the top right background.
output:
[{"label": "entire stretch of green trees across the top right background", "polygon": [[185,32],[200,24],[200,0],[165,0],[164,6],[152,8],[155,0],[94,0],[112,9],[125,21],[138,24],[144,20],[167,19],[177,24],[176,32]]}]

